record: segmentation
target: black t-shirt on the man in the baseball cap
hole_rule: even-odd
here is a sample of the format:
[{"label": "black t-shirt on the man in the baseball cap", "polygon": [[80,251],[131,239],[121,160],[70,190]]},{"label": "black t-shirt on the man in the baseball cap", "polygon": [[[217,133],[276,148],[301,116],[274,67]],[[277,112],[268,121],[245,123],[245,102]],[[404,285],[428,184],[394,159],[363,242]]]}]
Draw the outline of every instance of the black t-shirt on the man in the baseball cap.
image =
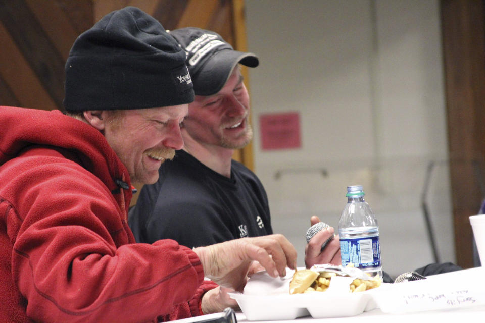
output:
[{"label": "black t-shirt on the man in the baseball cap", "polygon": [[243,164],[232,160],[227,178],[178,150],[159,174],[129,212],[137,242],[174,239],[192,248],[273,233],[266,191]]}]

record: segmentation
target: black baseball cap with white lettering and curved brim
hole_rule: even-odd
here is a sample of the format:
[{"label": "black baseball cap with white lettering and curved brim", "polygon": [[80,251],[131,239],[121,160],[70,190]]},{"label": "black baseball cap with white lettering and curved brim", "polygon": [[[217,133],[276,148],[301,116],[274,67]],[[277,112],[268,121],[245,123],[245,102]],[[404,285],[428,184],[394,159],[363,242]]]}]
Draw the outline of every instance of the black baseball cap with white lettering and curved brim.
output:
[{"label": "black baseball cap with white lettering and curved brim", "polygon": [[185,50],[185,64],[196,95],[213,95],[226,84],[234,67],[240,63],[248,67],[259,65],[251,52],[237,51],[218,33],[187,27],[169,32]]}]

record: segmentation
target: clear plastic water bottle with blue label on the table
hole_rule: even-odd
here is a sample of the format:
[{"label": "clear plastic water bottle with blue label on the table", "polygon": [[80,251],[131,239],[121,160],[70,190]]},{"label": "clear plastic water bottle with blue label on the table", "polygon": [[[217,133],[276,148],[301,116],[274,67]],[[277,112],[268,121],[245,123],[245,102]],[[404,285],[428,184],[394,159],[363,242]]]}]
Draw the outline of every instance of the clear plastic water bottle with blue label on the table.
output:
[{"label": "clear plastic water bottle with blue label on the table", "polygon": [[354,267],[382,279],[379,227],[375,214],[364,200],[362,185],[347,187],[347,204],[338,223],[342,266]]}]

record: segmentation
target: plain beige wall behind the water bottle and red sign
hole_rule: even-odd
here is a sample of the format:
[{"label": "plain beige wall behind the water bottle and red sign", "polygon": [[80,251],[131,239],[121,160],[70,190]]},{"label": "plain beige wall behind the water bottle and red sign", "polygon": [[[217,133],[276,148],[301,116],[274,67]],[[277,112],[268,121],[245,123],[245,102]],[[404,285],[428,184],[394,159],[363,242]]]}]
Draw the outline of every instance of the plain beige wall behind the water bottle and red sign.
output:
[{"label": "plain beige wall behind the water bottle and red sign", "polygon": [[[275,231],[299,251],[311,214],[332,226],[347,185],[377,215],[384,270],[433,262],[420,206],[428,165],[441,261],[455,261],[438,0],[246,0],[255,170]],[[263,151],[258,116],[299,111],[302,148]],[[325,169],[328,176],[319,172]],[[279,179],[278,170],[288,170]]]}]

